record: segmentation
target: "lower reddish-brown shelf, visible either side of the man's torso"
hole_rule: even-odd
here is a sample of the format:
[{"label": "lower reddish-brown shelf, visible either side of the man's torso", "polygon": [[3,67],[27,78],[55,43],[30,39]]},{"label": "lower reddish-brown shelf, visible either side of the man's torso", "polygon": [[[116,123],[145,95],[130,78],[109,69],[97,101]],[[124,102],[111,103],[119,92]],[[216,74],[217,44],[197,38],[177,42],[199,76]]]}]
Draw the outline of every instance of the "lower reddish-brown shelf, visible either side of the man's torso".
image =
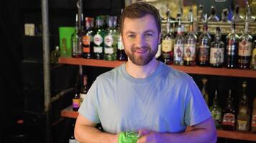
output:
[{"label": "lower reddish-brown shelf, visible either side of the man's torso", "polygon": [[[67,107],[61,111],[61,117],[68,117],[76,119],[78,117],[78,112],[74,112],[72,106]],[[186,131],[190,131],[192,128],[188,127]],[[247,141],[256,141],[256,134],[250,132],[237,132],[237,131],[225,131],[218,129],[218,137],[228,138],[228,139],[240,139]]]}]

